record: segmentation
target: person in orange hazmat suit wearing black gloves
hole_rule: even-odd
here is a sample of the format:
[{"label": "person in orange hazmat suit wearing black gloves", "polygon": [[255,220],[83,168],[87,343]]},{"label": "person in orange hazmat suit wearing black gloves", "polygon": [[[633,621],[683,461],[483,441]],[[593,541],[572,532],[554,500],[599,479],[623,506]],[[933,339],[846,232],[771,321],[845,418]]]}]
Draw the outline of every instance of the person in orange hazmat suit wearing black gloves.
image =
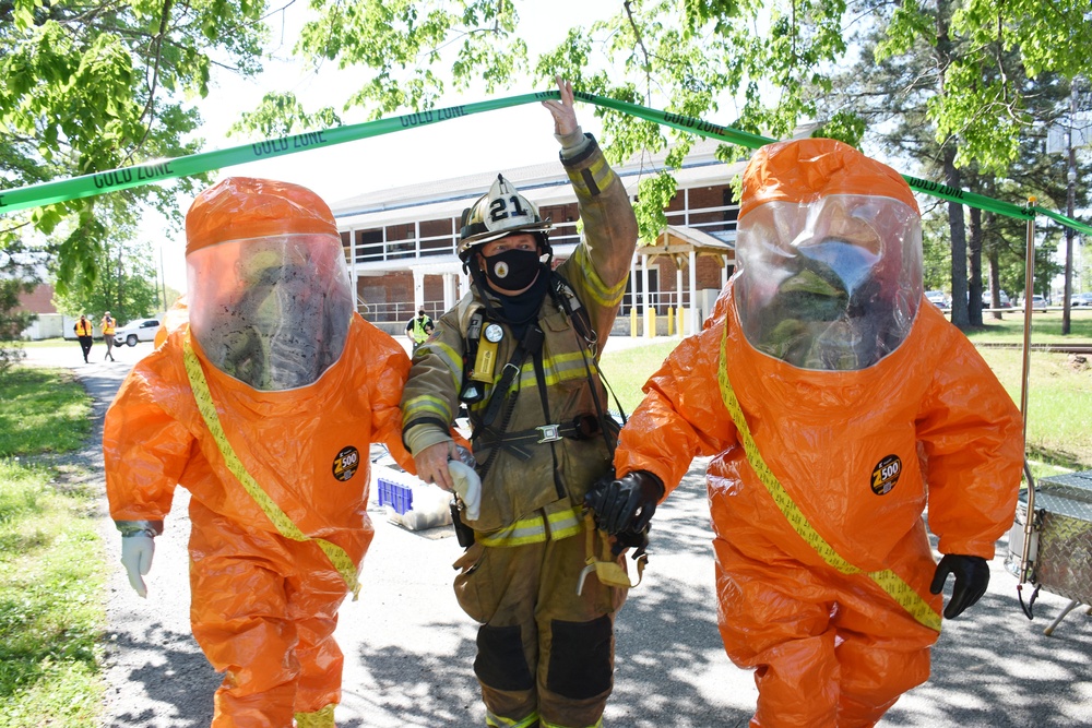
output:
[{"label": "person in orange hazmat suit wearing black gloves", "polygon": [[643,484],[673,490],[711,456],[717,616],[755,669],[751,726],[871,726],[928,679],[947,577],[948,619],[986,590],[1020,488],[1020,413],[924,298],[921,216],[890,167],[829,139],[760,148],[736,254],[589,503],[624,528]]}]

